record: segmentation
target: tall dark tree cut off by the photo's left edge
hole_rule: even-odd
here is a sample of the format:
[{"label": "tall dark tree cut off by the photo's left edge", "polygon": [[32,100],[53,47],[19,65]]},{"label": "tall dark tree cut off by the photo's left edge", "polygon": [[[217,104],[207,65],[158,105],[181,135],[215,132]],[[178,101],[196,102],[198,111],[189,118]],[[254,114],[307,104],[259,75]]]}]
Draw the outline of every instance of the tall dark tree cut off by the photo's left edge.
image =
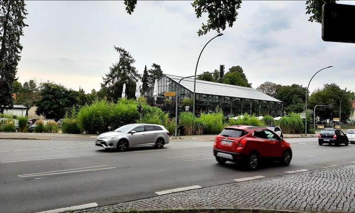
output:
[{"label": "tall dark tree cut off by the photo's left edge", "polygon": [[21,58],[20,36],[28,26],[25,5],[23,0],[0,0],[0,113],[13,105],[11,87]]}]

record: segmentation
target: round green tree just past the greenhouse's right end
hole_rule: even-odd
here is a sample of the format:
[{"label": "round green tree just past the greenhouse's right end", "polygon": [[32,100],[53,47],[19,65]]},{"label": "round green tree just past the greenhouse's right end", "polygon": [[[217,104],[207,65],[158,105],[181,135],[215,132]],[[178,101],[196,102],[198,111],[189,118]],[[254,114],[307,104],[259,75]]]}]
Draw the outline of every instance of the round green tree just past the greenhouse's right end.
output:
[{"label": "round green tree just past the greenhouse's right end", "polygon": [[[284,111],[302,112],[306,102],[307,88],[302,85],[292,84],[291,86],[282,86],[277,90],[276,99],[284,102]],[[307,92],[308,94],[308,92]]]}]

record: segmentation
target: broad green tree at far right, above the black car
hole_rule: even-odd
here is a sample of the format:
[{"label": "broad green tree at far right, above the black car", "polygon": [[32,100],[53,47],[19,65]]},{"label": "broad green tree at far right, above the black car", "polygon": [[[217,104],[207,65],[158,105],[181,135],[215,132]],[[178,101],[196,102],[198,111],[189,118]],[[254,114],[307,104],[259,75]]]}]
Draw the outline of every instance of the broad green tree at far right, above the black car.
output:
[{"label": "broad green tree at far right, above the black car", "polygon": [[342,90],[337,84],[324,84],[324,87],[317,89],[313,92],[309,98],[310,108],[313,109],[316,105],[329,105],[330,107],[317,107],[316,116],[320,117],[320,120],[332,119],[339,117],[340,101],[342,100],[341,118],[342,121],[346,121],[352,112],[352,98],[353,93],[347,91],[345,88]]}]

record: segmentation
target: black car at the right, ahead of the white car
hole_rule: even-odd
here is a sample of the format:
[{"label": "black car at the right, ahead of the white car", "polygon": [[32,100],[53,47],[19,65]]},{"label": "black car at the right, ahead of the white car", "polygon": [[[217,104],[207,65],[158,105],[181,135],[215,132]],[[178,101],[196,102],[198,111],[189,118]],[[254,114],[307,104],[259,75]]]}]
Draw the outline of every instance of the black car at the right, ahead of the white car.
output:
[{"label": "black car at the right, ahead of the white car", "polygon": [[349,145],[349,139],[341,130],[322,130],[318,135],[318,143],[319,145],[323,145],[323,143]]}]

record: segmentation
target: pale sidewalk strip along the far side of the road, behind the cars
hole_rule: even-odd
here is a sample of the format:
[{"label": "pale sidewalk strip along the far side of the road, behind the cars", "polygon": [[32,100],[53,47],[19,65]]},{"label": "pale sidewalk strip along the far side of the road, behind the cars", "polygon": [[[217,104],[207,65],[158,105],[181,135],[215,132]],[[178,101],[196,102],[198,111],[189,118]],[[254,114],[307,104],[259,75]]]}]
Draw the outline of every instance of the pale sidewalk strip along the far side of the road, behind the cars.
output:
[{"label": "pale sidewalk strip along the far side of the road, behind the cars", "polygon": [[[0,139],[19,139],[19,140],[51,140],[54,138],[96,138],[98,135],[89,134],[63,134],[63,133],[0,133]],[[214,141],[216,135],[197,135],[197,136],[174,136],[170,137],[171,142],[178,142],[181,140],[191,141]],[[318,137],[317,134],[307,134],[307,138]],[[305,138],[301,134],[284,134],[284,138]]]}]

